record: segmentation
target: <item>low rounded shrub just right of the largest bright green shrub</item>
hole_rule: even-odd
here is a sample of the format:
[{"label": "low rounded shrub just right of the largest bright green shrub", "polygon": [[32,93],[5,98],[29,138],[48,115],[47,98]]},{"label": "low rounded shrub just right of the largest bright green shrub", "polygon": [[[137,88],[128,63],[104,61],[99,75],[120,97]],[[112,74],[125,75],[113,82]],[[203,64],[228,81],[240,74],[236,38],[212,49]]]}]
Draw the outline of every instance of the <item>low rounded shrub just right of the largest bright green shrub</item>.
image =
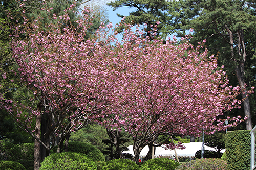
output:
[{"label": "low rounded shrub just right of the largest bright green shrub", "polygon": [[139,166],[129,159],[113,159],[98,170],[138,170]]}]

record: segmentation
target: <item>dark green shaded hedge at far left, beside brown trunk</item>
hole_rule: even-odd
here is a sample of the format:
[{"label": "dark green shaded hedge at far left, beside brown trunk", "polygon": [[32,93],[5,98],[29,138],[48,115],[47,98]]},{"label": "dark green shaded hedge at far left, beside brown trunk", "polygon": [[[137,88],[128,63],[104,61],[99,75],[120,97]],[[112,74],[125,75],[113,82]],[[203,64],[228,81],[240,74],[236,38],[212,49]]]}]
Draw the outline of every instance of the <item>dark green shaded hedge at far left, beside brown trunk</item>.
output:
[{"label": "dark green shaded hedge at far left, beside brown trunk", "polygon": [[0,141],[0,160],[29,161],[34,159],[34,144]]}]

